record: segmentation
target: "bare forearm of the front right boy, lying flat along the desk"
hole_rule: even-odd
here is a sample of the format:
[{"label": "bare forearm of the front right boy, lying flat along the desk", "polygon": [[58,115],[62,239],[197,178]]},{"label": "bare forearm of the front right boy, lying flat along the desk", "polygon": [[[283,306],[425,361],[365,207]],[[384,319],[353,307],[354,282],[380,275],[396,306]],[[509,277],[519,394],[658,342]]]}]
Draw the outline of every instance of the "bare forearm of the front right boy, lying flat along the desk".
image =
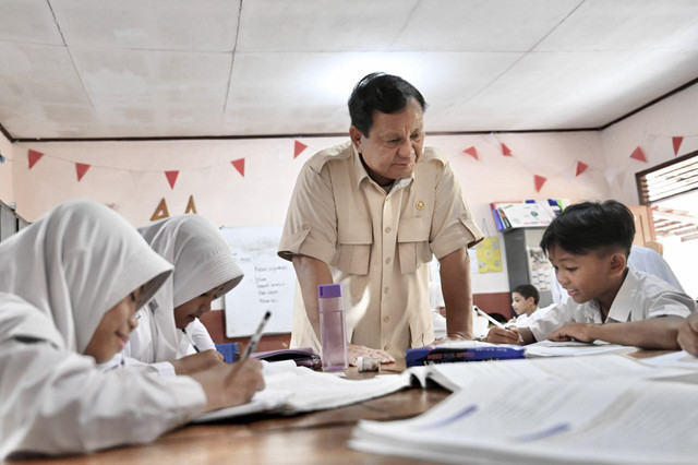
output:
[{"label": "bare forearm of the front right boy, lying flat along the desk", "polygon": [[551,332],[550,341],[577,339],[592,343],[597,339],[624,346],[636,346],[648,349],[678,349],[676,336],[684,321],[681,317],[666,315],[628,323],[566,324]]}]

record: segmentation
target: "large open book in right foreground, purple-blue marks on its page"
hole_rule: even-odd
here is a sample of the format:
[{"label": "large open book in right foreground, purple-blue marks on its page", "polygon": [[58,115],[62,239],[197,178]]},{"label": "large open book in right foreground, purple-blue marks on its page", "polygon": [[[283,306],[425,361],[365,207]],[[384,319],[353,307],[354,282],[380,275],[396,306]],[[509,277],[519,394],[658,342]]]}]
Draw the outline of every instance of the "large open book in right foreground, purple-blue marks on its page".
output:
[{"label": "large open book in right foreground, purple-blue marks on its page", "polygon": [[425,414],[361,421],[349,445],[453,463],[688,464],[698,390],[634,379],[481,382]]}]

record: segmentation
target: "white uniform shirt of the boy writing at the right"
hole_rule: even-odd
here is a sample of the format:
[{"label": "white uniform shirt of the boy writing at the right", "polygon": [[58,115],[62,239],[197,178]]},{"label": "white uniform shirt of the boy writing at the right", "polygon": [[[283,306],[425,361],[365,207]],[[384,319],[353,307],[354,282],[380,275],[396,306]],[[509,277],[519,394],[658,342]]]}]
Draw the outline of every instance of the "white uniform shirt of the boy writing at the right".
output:
[{"label": "white uniform shirt of the boy writing at the right", "polygon": [[529,330],[535,341],[543,341],[550,332],[567,323],[626,323],[666,315],[686,318],[695,311],[696,302],[669,283],[651,274],[628,270],[605,321],[602,321],[598,300],[576,303],[567,299],[529,325]]}]

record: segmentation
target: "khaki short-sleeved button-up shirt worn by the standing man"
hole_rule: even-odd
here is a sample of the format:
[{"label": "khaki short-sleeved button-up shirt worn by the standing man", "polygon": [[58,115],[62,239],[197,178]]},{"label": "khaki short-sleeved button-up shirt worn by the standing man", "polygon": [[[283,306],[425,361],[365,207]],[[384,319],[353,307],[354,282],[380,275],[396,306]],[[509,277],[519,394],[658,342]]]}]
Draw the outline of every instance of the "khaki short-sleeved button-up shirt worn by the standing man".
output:
[{"label": "khaki short-sleeved button-up shirt worn by the standing man", "polygon": [[[432,253],[441,259],[481,239],[443,152],[426,147],[412,176],[386,193],[349,141],[303,166],[278,253],[327,263],[342,284],[347,341],[404,357],[434,339]],[[298,289],[291,346],[320,349]]]}]

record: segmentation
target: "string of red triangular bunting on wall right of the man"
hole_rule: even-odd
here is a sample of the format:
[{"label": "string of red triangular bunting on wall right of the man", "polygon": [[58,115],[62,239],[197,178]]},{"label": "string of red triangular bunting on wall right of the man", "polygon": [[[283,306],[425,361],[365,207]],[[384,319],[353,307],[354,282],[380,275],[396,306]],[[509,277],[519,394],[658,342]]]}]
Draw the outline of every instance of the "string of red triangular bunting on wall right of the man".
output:
[{"label": "string of red triangular bunting on wall right of the man", "polygon": [[[625,180],[625,175],[627,169],[630,167],[630,164],[634,162],[629,162],[630,159],[635,159],[637,162],[640,163],[648,163],[648,158],[646,153],[653,153],[654,147],[655,147],[655,143],[659,139],[664,139],[664,138],[669,138],[671,139],[671,146],[672,146],[672,151],[674,153],[674,157],[678,156],[679,151],[681,151],[681,146],[682,143],[684,142],[685,139],[687,138],[695,138],[698,136],[698,134],[688,134],[688,135],[666,135],[666,134],[653,134],[653,133],[645,133],[642,136],[642,142],[637,145],[635,147],[635,150],[629,154],[628,156],[628,163],[625,164],[624,167],[622,168],[609,168],[604,171],[604,176],[606,178],[606,181],[609,182],[609,184],[612,184],[614,181],[617,182],[621,188],[623,188],[623,183]],[[498,148],[498,152],[502,154],[502,156],[504,157],[512,157],[515,158],[519,162],[519,164],[524,165],[521,163],[521,159],[518,157],[514,156],[514,152],[512,151],[512,148],[505,144],[504,142],[500,141],[498,136],[496,133],[492,132],[490,134],[488,134],[486,136],[484,136],[485,142],[488,142],[488,144],[490,145],[496,145]],[[645,146],[646,148],[643,150],[642,146]],[[478,152],[478,148],[474,145],[471,145],[467,148],[465,148],[462,151],[464,154],[471,156],[476,162],[482,162],[481,155]],[[525,166],[525,165],[524,165]],[[525,166],[526,167],[526,166]],[[528,169],[528,167],[526,167],[527,170],[529,172],[532,172],[530,169]],[[566,174],[571,174],[574,172],[574,177],[578,178],[581,175],[583,175],[585,172],[588,172],[590,166],[586,163],[583,163],[580,159],[576,159],[574,162],[574,164],[571,164],[568,168],[558,171],[552,176],[559,176],[559,175],[566,175]],[[533,188],[535,189],[535,192],[540,192],[541,189],[543,189],[543,186],[545,184],[545,182],[547,181],[549,177],[551,177],[550,174],[546,174],[546,176],[542,176],[541,174],[537,174],[537,172],[532,172],[533,175]],[[567,177],[567,176],[566,176]]]}]

